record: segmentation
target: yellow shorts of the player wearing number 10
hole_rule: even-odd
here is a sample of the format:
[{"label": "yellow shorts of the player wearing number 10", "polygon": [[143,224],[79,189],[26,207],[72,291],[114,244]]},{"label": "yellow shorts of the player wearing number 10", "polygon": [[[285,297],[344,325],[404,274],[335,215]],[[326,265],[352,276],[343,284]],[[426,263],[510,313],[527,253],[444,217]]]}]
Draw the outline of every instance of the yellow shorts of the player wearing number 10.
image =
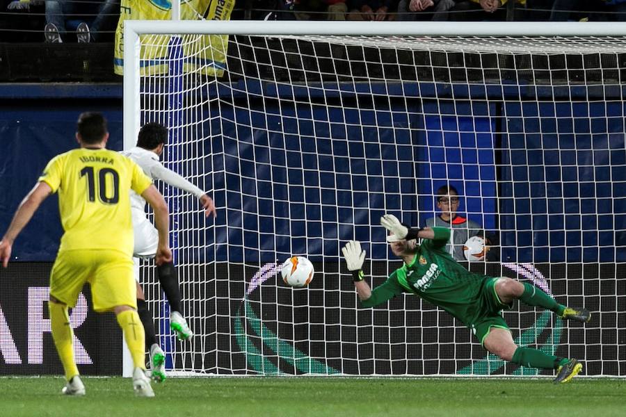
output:
[{"label": "yellow shorts of the player wearing number 10", "polygon": [[137,308],[131,256],[114,250],[58,252],[50,274],[50,295],[74,307],[86,282],[91,286],[95,311],[122,305]]}]

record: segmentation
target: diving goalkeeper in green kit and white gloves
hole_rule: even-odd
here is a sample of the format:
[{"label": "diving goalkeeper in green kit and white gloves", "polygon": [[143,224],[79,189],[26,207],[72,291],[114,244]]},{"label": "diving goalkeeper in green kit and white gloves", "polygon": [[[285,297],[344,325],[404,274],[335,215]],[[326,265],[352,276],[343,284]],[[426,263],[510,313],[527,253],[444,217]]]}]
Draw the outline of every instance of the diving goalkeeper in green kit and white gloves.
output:
[{"label": "diving goalkeeper in green kit and white gloves", "polygon": [[[585,309],[565,307],[536,286],[515,279],[474,274],[454,261],[444,248],[450,231],[444,227],[412,229],[391,214],[380,218],[390,231],[387,241],[404,261],[384,284],[371,290],[361,270],[365,251],[357,240],[349,241],[342,252],[352,272],[361,304],[376,306],[401,293],[419,295],[472,329],[483,347],[505,361],[532,368],[556,369],[555,383],[568,382],[582,370],[577,359],[566,359],[531,347],[517,347],[500,311],[511,309],[513,301],[554,311],[557,316],[578,322],[591,320]],[[422,244],[417,244],[421,238]]]}]

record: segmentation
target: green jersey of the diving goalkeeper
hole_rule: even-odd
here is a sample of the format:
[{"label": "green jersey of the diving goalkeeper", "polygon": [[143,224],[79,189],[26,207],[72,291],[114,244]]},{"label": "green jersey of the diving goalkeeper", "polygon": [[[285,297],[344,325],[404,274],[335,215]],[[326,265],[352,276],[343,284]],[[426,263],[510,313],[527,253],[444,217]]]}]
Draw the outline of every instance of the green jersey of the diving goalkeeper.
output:
[{"label": "green jersey of the diving goalkeeper", "polygon": [[450,238],[445,227],[433,227],[435,237],[424,239],[410,265],[395,270],[361,304],[376,306],[401,293],[413,293],[439,306],[465,325],[481,314],[481,288],[490,279],[458,264],[444,248]]}]

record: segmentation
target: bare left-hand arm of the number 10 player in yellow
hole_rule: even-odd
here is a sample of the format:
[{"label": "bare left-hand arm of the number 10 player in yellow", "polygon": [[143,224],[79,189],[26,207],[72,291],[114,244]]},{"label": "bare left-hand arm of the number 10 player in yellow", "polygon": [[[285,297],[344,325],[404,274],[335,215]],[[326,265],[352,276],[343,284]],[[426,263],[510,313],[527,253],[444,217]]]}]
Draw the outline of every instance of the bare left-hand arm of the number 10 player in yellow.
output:
[{"label": "bare left-hand arm of the number 10 player in yellow", "polygon": [[11,257],[11,249],[15,238],[17,238],[19,232],[29,223],[35,211],[51,193],[52,188],[47,183],[39,182],[17,207],[13,220],[11,220],[11,224],[0,241],[0,259],[4,268],[7,267],[8,260]]}]

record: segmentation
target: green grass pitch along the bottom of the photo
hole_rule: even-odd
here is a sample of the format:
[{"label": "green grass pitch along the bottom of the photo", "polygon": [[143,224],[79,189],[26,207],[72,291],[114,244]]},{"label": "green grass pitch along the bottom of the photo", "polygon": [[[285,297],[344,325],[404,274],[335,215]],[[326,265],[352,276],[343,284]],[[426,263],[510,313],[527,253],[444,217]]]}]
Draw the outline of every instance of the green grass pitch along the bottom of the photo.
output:
[{"label": "green grass pitch along the bottom of the photo", "polygon": [[61,377],[1,377],[2,416],[626,416],[626,380],[349,377],[170,378],[155,398],[131,379],[83,377],[87,395],[61,395]]}]

